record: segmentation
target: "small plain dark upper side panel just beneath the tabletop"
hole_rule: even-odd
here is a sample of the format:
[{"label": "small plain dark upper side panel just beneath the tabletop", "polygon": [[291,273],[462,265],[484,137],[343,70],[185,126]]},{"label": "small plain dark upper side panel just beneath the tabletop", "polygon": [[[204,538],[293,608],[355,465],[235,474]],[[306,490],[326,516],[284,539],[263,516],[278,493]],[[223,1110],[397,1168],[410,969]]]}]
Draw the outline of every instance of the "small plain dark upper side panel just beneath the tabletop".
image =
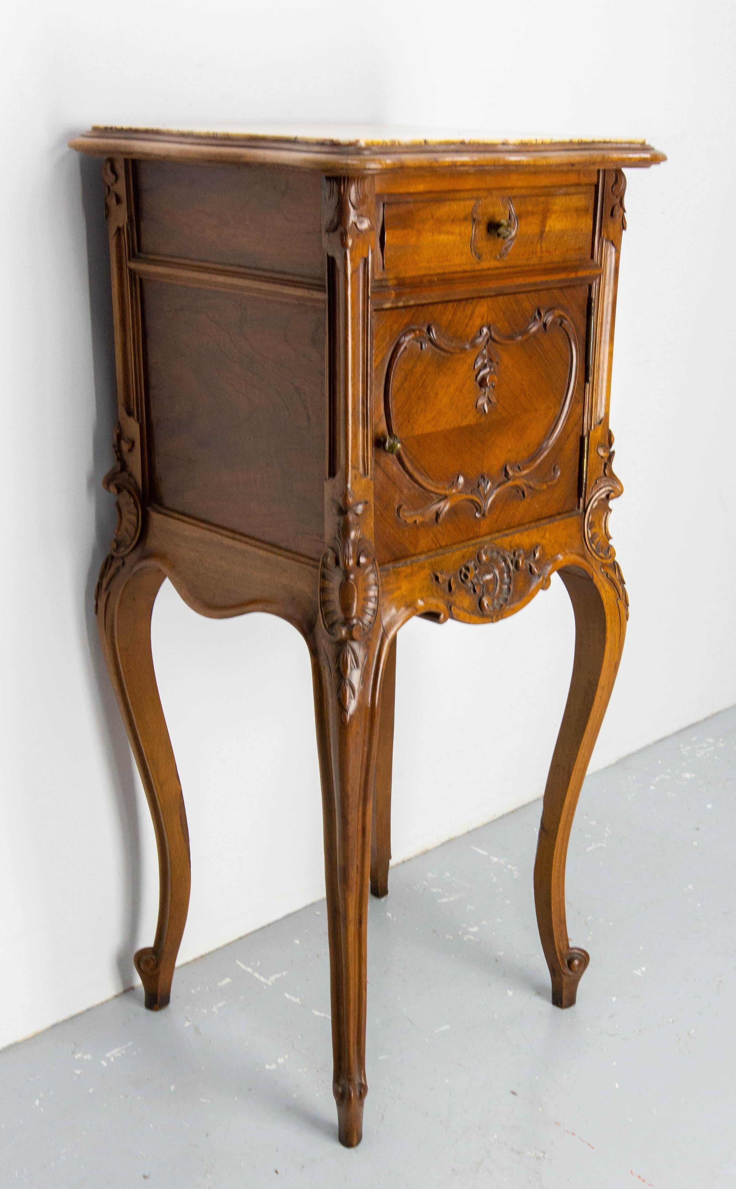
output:
[{"label": "small plain dark upper side panel just beneath the tabletop", "polygon": [[136,182],[140,252],[325,277],[319,174],[140,161]]}]

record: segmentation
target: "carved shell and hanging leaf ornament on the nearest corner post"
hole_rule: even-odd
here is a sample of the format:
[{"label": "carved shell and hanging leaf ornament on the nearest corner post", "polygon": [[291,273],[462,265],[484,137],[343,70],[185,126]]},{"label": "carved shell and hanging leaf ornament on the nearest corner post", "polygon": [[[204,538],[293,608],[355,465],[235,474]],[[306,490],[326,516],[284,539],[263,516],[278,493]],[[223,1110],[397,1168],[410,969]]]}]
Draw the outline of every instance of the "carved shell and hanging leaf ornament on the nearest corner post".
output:
[{"label": "carved shell and hanging leaf ornament on the nearest corner post", "polygon": [[378,567],[360,518],[365,501],[347,491],[338,507],[334,545],[322,554],[320,614],[327,634],[338,643],[334,680],[342,721],[352,715],[360,692],[365,648],[378,611]]}]

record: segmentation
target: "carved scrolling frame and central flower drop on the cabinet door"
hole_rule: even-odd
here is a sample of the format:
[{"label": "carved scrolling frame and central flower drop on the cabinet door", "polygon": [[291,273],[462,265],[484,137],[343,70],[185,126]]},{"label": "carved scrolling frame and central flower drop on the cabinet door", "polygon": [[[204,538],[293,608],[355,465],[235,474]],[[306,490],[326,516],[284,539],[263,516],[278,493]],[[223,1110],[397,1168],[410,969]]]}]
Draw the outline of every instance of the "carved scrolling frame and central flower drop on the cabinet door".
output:
[{"label": "carved scrolling frame and central flower drop on the cabinet door", "polygon": [[543,312],[537,309],[530,322],[522,331],[518,331],[515,334],[503,334],[503,332],[495,326],[482,326],[478,333],[468,342],[457,342],[445,339],[440,335],[436,327],[432,325],[426,327],[409,327],[409,329],[403,331],[402,334],[400,334],[386,366],[383,388],[383,405],[389,438],[397,439],[401,442],[401,434],[397,432],[397,427],[394,421],[392,388],[396,366],[409,344],[419,344],[420,350],[432,346],[446,354],[457,354],[467,351],[471,347],[480,346],[480,353],[476,357],[473,365],[476,383],[480,389],[480,396],[476,401],[476,408],[482,409],[483,413],[487,413],[489,408],[496,402],[493,389],[496,386],[495,377],[498,369],[498,363],[496,358],[491,356],[490,348],[487,350],[487,353],[485,352],[487,344],[497,342],[502,345],[511,345],[523,342],[533,334],[536,334],[537,331],[542,329],[547,332],[552,326],[558,326],[567,339],[570,366],[567,371],[565,395],[558,410],[558,415],[540,446],[533,454],[522,461],[507,463],[502,467],[501,473],[495,478],[489,478],[486,474],[479,474],[473,484],[468,485],[465,476],[458,474],[449,485],[445,485],[438,484],[434,479],[432,479],[432,477],[428,476],[426,471],[423,471],[423,468],[411,459],[402,445],[396,452],[397,463],[417,487],[421,487],[423,491],[428,491],[438,498],[433,499],[422,508],[409,509],[402,504],[397,509],[400,520],[403,520],[408,524],[421,524],[434,518],[439,523],[449,508],[454,504],[464,502],[470,502],[474,505],[476,517],[480,520],[482,517],[487,516],[493,499],[504,487],[516,491],[523,499],[529,491],[543,491],[546,487],[552,486],[553,483],[556,483],[560,477],[560,468],[556,464],[545,478],[533,479],[531,472],[535,471],[536,467],[545,460],[558,440],[565,423],[565,419],[570,411],[578,379],[578,338],[572,320],[562,309],[547,309]]}]

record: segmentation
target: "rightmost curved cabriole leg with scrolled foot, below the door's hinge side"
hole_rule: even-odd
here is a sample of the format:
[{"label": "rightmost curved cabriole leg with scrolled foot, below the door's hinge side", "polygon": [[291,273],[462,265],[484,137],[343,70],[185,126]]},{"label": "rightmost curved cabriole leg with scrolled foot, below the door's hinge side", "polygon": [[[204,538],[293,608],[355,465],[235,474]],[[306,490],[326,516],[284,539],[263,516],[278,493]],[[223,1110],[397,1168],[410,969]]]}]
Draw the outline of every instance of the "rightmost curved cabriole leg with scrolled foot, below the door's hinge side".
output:
[{"label": "rightmost curved cabriole leg with scrolled foot, below the door's hinge side", "polygon": [[[618,574],[621,572],[618,571]],[[536,862],[536,920],[552,976],[552,1002],[572,1007],[589,963],[572,949],[565,917],[565,863],[573,816],[614,688],[625,634],[622,594],[603,573],[560,571],[575,616],[575,655],[565,715],[547,778]],[[621,579],[623,583],[623,578]]]}]

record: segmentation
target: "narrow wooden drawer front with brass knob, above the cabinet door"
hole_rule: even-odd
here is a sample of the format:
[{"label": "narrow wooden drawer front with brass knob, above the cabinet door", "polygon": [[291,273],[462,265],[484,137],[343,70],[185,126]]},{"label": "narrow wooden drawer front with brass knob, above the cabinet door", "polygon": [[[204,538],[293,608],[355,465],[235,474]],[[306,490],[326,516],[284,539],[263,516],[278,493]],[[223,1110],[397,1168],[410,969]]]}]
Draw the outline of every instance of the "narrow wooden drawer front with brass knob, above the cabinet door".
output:
[{"label": "narrow wooden drawer front with brass knob, above the cabinet door", "polygon": [[589,262],[595,199],[590,184],[528,193],[499,189],[439,201],[389,200],[380,233],[382,275],[390,279]]}]

